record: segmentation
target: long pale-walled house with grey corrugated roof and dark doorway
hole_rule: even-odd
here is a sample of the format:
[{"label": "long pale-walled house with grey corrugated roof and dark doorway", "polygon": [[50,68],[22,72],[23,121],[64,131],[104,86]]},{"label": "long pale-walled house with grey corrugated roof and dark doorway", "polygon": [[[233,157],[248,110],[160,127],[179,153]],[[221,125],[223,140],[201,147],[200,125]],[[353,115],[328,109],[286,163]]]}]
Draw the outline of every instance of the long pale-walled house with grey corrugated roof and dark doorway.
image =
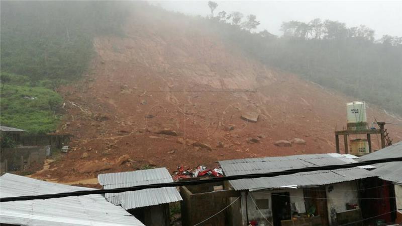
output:
[{"label": "long pale-walled house with grey corrugated roof and dark doorway", "polygon": [[[314,166],[343,165],[357,157],[341,154],[296,155],[220,161],[226,176],[279,172]],[[230,225],[337,225],[362,219],[359,181],[375,177],[368,170],[314,171],[229,182],[241,198],[228,212]],[[229,198],[231,203],[234,198]],[[356,224],[360,225],[360,224]]]}]

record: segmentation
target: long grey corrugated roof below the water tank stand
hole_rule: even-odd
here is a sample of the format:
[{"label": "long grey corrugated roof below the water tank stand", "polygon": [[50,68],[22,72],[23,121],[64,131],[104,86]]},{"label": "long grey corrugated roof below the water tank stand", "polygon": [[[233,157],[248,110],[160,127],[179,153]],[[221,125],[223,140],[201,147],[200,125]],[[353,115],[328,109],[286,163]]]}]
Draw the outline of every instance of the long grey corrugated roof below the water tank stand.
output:
[{"label": "long grey corrugated roof below the water tank stand", "polygon": [[[251,173],[269,173],[313,166],[342,165],[356,162],[352,155],[314,154],[285,157],[266,157],[255,159],[220,161],[226,176]],[[318,186],[374,177],[369,171],[360,168],[334,171],[315,171],[271,178],[242,179],[230,181],[235,190],[258,190],[280,188],[282,186]]]}]

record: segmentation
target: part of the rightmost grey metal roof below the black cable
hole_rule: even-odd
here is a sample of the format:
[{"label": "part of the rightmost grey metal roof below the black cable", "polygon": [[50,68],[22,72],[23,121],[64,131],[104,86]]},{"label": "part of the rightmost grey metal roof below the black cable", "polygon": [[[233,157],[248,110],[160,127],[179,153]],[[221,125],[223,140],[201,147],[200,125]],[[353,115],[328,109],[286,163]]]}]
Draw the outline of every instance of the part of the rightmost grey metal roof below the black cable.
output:
[{"label": "part of the rightmost grey metal roof below the black cable", "polygon": [[400,162],[380,163],[374,165],[376,169],[371,173],[382,180],[402,185],[402,164]]}]

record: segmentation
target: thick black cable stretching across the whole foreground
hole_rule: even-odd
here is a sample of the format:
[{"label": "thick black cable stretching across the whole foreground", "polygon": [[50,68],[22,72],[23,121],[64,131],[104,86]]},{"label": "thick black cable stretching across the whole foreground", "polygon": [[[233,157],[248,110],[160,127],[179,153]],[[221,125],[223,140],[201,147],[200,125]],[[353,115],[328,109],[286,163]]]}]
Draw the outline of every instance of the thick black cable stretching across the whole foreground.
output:
[{"label": "thick black cable stretching across the whole foreground", "polygon": [[344,164],[344,165],[305,167],[305,168],[300,168],[300,169],[290,169],[290,170],[284,170],[284,171],[279,171],[279,172],[270,172],[270,173],[215,177],[215,178],[209,178],[209,179],[205,179],[205,180],[179,181],[179,182],[170,182],[170,183],[138,185],[138,186],[127,187],[127,188],[83,190],[83,191],[74,191],[74,192],[63,192],[63,193],[57,193],[57,194],[5,197],[5,198],[0,198],[0,202],[62,198],[62,197],[69,197],[69,196],[82,196],[82,195],[91,195],[91,194],[106,194],[106,193],[115,194],[115,193],[121,193],[121,192],[126,192],[126,191],[139,191],[139,190],[149,189],[149,188],[191,186],[191,185],[200,185],[200,184],[216,183],[216,182],[222,182],[222,181],[232,181],[232,180],[239,180],[239,179],[255,179],[255,178],[261,178],[261,177],[268,178],[268,177],[284,176],[284,175],[290,175],[290,174],[295,174],[295,173],[320,171],[320,170],[348,169],[348,168],[353,168],[353,167],[358,167],[358,166],[366,166],[366,165],[373,165],[373,164],[378,164],[378,163],[388,163],[388,162],[402,162],[402,157],[368,160],[368,161],[349,163],[349,164]]}]

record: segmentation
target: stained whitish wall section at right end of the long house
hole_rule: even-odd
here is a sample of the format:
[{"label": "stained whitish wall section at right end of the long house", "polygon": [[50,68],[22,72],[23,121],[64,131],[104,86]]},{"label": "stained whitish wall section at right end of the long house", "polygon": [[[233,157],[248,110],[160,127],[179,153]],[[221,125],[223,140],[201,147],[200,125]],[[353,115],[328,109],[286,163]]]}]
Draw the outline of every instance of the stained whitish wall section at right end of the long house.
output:
[{"label": "stained whitish wall section at right end of the long house", "polygon": [[329,223],[336,225],[336,213],[346,211],[346,203],[358,204],[357,181],[327,185],[327,208]]}]

